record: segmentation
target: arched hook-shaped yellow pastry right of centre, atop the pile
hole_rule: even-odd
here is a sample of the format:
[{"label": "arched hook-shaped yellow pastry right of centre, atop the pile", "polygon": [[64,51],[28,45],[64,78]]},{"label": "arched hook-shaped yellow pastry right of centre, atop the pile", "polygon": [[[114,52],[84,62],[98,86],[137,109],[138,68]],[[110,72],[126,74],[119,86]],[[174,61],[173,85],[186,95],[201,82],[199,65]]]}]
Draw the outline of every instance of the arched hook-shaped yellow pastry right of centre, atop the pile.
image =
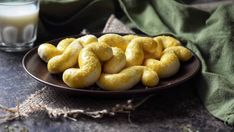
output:
[{"label": "arched hook-shaped yellow pastry right of centre, atop the pile", "polygon": [[162,46],[149,37],[138,37],[133,39],[125,51],[127,67],[141,65],[144,54],[152,54],[154,58],[159,58],[162,54]]}]

